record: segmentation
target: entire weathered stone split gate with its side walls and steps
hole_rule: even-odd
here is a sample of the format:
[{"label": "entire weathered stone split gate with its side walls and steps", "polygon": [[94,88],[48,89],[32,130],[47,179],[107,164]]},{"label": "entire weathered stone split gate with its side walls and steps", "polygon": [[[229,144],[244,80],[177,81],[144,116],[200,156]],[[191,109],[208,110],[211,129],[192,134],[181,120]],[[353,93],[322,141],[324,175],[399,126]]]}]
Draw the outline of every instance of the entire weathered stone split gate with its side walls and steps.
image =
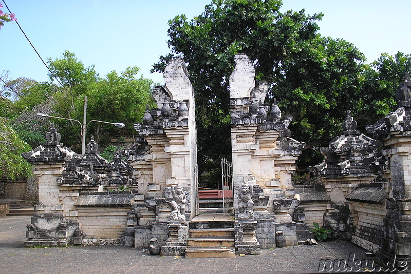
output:
[{"label": "entire weathered stone split gate with its side walls and steps", "polygon": [[113,161],[99,155],[94,140],[85,154],[74,153],[55,129],[46,143],[23,154],[39,179],[39,204],[25,245],[148,248],[156,238],[163,255],[223,257],[255,254],[284,241],[294,245],[312,238],[309,228],[316,222],[382,259],[395,252],[409,261],[409,77],[398,92],[400,108],[368,127],[376,139],[360,134],[348,113],[342,135],[322,148],[325,162],[312,168],[323,185],[297,186],[291,174],[305,143],[291,138],[290,116],[276,103],[264,104],[268,83],[255,83],[247,55],[237,54],[234,62],[234,216],[197,216],[194,90],[176,57],[166,65],[165,86],[153,90],[157,107],[147,108],[143,122],[135,124],[136,144]]}]

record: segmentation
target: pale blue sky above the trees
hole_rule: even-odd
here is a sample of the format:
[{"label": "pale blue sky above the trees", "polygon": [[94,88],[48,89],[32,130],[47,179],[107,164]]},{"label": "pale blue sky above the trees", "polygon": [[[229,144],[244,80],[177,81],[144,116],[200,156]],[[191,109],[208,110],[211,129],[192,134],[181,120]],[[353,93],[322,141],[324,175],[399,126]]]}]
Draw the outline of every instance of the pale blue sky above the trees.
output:
[{"label": "pale blue sky above the trees", "polygon": [[[2,0],[0,0],[2,2]],[[138,66],[144,77],[162,83],[151,66],[167,48],[167,21],[199,15],[211,0],[5,0],[34,47],[46,61],[69,50],[100,76]],[[410,0],[283,0],[282,11],[325,14],[320,33],[344,38],[367,62],[387,52],[411,53]],[[3,8],[6,10],[6,7]],[[6,12],[6,11],[5,11]],[[47,69],[15,23],[0,30],[0,74],[48,81]]]}]

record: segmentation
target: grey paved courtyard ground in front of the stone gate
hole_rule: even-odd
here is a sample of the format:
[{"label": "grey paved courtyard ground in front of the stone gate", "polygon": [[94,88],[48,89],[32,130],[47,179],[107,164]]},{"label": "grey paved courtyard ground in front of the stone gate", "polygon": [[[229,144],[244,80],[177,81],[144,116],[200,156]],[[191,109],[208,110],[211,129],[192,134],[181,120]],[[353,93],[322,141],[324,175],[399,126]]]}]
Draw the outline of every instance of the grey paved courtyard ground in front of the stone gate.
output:
[{"label": "grey paved courtyard ground in front of the stone gate", "polygon": [[[29,217],[0,218],[0,273],[317,273],[321,260],[328,260],[321,263],[327,264],[322,271],[327,272],[334,260],[352,261],[353,255],[354,259],[366,258],[363,249],[345,241],[265,249],[261,255],[206,259],[150,256],[142,249],[123,246],[24,248],[28,223]],[[333,269],[339,270],[336,263]],[[349,267],[343,270],[347,272]]]}]

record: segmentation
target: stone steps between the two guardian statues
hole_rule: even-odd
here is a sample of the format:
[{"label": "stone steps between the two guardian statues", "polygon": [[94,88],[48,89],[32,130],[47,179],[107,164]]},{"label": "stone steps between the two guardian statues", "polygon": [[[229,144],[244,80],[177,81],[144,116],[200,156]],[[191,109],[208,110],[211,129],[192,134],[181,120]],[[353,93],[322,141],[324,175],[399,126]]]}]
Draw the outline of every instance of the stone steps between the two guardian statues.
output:
[{"label": "stone steps between the two guardian statues", "polygon": [[234,221],[229,218],[222,214],[201,214],[194,218],[190,222],[185,257],[235,257]]}]

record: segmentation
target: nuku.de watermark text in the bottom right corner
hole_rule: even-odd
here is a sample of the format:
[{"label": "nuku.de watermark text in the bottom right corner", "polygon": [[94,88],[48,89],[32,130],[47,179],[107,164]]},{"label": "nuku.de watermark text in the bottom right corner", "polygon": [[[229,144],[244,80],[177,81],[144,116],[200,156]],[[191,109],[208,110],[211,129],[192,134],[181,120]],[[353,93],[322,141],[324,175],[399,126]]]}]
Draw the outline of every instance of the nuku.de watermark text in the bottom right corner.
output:
[{"label": "nuku.de watermark text in the bottom right corner", "polygon": [[403,272],[407,269],[407,262],[399,260],[395,253],[391,253],[390,258],[383,261],[381,266],[373,259],[356,259],[356,254],[352,252],[348,259],[323,259],[318,266],[320,272]]}]

